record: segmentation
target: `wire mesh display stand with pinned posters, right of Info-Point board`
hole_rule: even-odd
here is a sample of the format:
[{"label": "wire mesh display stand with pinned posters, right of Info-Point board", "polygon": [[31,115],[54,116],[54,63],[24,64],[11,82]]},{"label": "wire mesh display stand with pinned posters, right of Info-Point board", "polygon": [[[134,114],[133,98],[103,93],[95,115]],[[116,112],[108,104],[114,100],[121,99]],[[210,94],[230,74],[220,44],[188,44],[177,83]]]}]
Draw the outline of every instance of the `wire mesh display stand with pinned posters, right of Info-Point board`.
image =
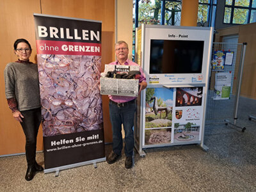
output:
[{"label": "wire mesh display stand with pinned posters, right of Info-Point board", "polygon": [[[206,111],[207,124],[212,124],[212,122],[214,122],[214,124],[225,122],[226,125],[241,129],[242,132],[245,131],[246,127],[237,125],[237,111],[239,106],[245,51],[246,43],[213,43],[211,77],[209,81],[211,88],[207,98]],[[223,57],[223,68],[214,68],[216,67],[216,63],[214,63],[216,62],[216,56],[214,55],[216,52],[232,52],[232,58],[228,62],[225,60],[225,56]],[[224,63],[224,61],[226,62]],[[227,74],[229,74],[229,84],[227,85],[227,81],[223,80],[218,83],[218,79],[216,79],[218,74],[222,74],[226,79],[228,79]],[[218,93],[220,90],[218,86],[229,87],[228,94]]]}]

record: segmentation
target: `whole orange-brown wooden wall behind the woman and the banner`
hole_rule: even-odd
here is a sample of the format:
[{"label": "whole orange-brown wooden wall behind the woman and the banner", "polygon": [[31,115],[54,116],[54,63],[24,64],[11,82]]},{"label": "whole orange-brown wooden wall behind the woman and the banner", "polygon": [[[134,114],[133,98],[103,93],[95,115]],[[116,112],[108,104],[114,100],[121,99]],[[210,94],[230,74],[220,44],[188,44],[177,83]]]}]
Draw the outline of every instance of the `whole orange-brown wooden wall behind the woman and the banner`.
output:
[{"label": "whole orange-brown wooden wall behind the woman and the banner", "polygon": [[[33,52],[30,60],[36,61],[35,26],[33,13],[77,17],[81,19],[102,20],[102,70],[104,64],[115,60],[113,52],[115,36],[115,0],[1,0],[0,6],[0,156],[24,152],[25,137],[22,128],[12,117],[4,95],[4,67],[10,61],[16,61],[13,54],[13,42],[17,38],[29,40]],[[26,10],[26,11],[25,11]],[[108,97],[104,102],[105,141],[112,141],[109,122]],[[37,150],[42,150],[42,127],[38,133]]]}]

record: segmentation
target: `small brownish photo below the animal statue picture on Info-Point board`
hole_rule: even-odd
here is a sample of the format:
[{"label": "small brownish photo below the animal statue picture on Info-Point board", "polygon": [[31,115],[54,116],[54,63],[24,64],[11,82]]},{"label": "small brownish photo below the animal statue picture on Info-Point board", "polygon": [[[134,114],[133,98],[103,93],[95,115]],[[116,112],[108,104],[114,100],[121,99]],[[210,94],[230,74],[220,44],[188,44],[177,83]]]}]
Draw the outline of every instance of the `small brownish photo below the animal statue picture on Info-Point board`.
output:
[{"label": "small brownish photo below the animal statue picture on Info-Point board", "polygon": [[171,143],[172,128],[145,130],[145,145]]}]

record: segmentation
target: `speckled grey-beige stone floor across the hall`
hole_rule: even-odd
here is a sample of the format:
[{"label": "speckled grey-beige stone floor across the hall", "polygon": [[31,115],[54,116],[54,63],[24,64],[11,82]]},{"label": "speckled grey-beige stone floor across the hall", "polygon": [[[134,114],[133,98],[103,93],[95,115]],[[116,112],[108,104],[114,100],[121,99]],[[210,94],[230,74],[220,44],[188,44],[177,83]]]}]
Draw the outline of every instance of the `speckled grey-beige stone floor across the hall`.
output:
[{"label": "speckled grey-beige stone floor across the hall", "polygon": [[[24,179],[25,156],[0,158],[0,191],[256,191],[256,101],[241,98],[237,124],[205,127],[204,152],[198,145],[145,150],[135,154],[135,166],[124,167],[125,157],[114,164],[98,163]],[[106,154],[111,145],[106,145]],[[44,154],[37,154],[44,163]]]}]

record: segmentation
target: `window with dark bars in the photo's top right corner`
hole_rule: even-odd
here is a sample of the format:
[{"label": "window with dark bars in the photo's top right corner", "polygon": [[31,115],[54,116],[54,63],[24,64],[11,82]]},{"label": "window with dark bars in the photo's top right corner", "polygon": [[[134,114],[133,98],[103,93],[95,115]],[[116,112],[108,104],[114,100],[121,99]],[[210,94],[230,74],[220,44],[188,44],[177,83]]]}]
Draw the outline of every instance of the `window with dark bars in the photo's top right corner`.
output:
[{"label": "window with dark bars in the photo's top right corner", "polygon": [[225,24],[248,24],[256,22],[256,0],[226,0]]}]

